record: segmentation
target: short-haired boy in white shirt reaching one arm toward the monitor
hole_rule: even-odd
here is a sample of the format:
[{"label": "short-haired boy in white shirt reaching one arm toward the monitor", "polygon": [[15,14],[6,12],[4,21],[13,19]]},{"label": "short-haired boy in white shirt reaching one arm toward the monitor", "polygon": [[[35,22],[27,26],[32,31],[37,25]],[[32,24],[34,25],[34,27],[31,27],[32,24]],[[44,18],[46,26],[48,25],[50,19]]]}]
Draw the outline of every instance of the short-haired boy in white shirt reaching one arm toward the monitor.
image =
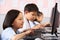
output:
[{"label": "short-haired boy in white shirt reaching one arm toward the monitor", "polygon": [[[35,4],[27,4],[24,8],[24,16],[25,16],[25,20],[28,22],[29,26],[23,25],[24,29],[39,29],[39,28],[43,28],[43,25],[36,25],[36,23],[34,22],[34,20],[37,17],[37,13],[38,13],[39,9]],[[31,40],[31,39],[30,39]]]}]

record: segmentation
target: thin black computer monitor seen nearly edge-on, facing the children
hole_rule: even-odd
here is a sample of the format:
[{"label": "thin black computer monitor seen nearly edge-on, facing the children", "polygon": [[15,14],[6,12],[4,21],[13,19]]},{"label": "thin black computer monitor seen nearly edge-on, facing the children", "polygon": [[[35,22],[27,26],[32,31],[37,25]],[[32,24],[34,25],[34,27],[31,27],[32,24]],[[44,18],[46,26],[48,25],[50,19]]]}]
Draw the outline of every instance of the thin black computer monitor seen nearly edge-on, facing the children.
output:
[{"label": "thin black computer monitor seen nearly edge-on, facing the children", "polygon": [[57,3],[55,4],[54,8],[52,9],[52,15],[51,15],[51,26],[52,31],[51,34],[55,34],[57,36],[57,27],[59,27],[59,12],[57,10]]}]

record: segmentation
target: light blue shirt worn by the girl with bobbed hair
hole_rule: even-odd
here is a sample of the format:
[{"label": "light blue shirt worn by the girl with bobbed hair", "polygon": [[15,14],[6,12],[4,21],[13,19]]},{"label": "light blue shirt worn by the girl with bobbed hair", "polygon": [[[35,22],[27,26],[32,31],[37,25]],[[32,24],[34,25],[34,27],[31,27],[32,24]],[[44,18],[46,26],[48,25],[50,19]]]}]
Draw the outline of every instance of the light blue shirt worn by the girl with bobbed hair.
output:
[{"label": "light blue shirt worn by the girl with bobbed hair", "polygon": [[16,35],[14,30],[11,27],[6,28],[3,30],[1,34],[1,40],[11,40],[11,38]]}]

